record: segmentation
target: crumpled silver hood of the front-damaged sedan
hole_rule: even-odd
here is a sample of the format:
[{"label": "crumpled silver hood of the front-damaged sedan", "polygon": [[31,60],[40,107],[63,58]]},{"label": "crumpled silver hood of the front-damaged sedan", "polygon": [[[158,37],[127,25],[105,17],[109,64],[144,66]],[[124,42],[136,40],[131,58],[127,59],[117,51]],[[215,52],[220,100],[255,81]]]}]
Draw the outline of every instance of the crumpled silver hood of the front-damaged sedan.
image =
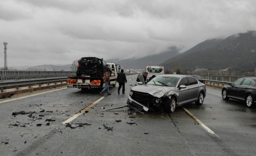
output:
[{"label": "crumpled silver hood of the front-damaged sedan", "polygon": [[131,88],[133,91],[148,93],[154,97],[162,97],[167,92],[175,89],[175,87],[165,87],[165,86],[157,86],[157,85],[137,85]]}]

